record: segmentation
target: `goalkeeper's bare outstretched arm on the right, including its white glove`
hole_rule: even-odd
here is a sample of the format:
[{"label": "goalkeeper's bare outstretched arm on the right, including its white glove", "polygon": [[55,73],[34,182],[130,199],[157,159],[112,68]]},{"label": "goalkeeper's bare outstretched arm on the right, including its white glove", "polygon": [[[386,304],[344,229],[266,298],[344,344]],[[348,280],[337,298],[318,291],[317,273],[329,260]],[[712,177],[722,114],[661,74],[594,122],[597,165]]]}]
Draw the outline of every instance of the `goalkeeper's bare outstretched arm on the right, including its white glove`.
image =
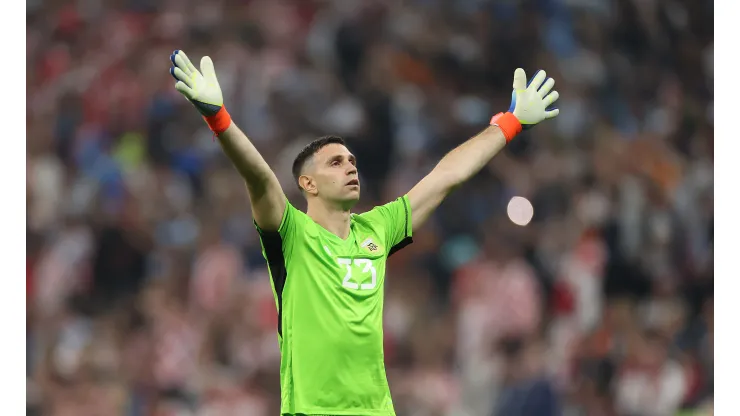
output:
[{"label": "goalkeeper's bare outstretched arm on the right, including its white glove", "polygon": [[509,111],[495,115],[489,127],[447,153],[409,191],[414,230],[424,224],[453,189],[478,173],[522,128],[559,114],[557,108],[549,108],[559,96],[557,91],[550,92],[555,81],[547,78],[545,71],[538,71],[529,84],[526,80],[523,69],[514,71],[514,93]]}]

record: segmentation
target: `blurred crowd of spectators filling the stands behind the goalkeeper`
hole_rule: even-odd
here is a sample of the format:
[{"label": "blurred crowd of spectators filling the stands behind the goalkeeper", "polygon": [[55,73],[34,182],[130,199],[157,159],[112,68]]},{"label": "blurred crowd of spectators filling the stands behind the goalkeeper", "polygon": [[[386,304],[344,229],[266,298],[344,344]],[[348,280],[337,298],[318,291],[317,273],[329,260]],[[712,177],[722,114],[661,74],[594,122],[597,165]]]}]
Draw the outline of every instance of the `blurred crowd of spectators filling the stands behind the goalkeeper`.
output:
[{"label": "blurred crowd of spectators filling the stands behind the goalkeeper", "polygon": [[[27,402],[53,416],[275,415],[276,311],[243,181],[168,57],[215,62],[291,201],[358,156],[369,209],[545,69],[517,138],[393,257],[400,416],[710,414],[713,2],[29,0]],[[513,196],[534,205],[512,224]]]}]

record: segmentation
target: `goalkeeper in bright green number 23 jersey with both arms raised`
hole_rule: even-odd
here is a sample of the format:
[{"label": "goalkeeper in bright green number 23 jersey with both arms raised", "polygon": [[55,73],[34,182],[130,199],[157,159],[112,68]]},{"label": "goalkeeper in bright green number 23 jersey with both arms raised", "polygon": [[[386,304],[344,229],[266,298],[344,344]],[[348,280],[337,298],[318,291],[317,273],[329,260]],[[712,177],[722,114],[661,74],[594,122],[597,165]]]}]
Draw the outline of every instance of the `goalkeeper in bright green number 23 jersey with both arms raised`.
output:
[{"label": "goalkeeper in bright green number 23 jersey with both arms raised", "polygon": [[224,107],[216,71],[182,51],[170,73],[218,136],[246,182],[278,311],[283,415],[394,415],[383,360],[383,287],[388,256],[411,242],[442,200],[475,175],[523,128],[553,118],[555,81],[514,71],[508,112],[440,160],[406,195],[362,213],[355,156],[341,138],[308,144],[293,176],[308,202],[294,208],[280,183]]}]

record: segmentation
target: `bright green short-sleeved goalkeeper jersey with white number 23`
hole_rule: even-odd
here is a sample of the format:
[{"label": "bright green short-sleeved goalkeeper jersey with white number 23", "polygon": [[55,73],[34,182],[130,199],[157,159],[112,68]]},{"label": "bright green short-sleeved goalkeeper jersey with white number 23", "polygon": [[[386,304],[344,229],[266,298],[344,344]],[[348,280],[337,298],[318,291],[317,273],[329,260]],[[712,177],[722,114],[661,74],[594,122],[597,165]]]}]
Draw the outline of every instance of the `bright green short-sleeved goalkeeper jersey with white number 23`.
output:
[{"label": "bright green short-sleeved goalkeeper jersey with white number 23", "polygon": [[282,414],[395,415],[383,357],[388,256],[411,242],[404,196],[352,214],[342,240],[287,203],[259,230],[278,309]]}]

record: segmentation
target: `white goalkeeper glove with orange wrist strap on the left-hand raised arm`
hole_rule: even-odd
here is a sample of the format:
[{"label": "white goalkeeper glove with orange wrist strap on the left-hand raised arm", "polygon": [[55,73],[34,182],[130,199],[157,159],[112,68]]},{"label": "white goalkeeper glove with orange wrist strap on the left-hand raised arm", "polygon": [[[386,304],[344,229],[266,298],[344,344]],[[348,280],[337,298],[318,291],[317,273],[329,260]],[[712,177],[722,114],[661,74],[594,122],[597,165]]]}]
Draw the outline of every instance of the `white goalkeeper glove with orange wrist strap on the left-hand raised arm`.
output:
[{"label": "white goalkeeper glove with orange wrist strap on the left-hand raised arm", "polygon": [[231,116],[224,107],[224,97],[211,58],[204,56],[200,60],[200,71],[183,51],[173,52],[170,61],[170,74],[177,80],[175,89],[200,111],[215,135],[226,131],[231,125]]}]

